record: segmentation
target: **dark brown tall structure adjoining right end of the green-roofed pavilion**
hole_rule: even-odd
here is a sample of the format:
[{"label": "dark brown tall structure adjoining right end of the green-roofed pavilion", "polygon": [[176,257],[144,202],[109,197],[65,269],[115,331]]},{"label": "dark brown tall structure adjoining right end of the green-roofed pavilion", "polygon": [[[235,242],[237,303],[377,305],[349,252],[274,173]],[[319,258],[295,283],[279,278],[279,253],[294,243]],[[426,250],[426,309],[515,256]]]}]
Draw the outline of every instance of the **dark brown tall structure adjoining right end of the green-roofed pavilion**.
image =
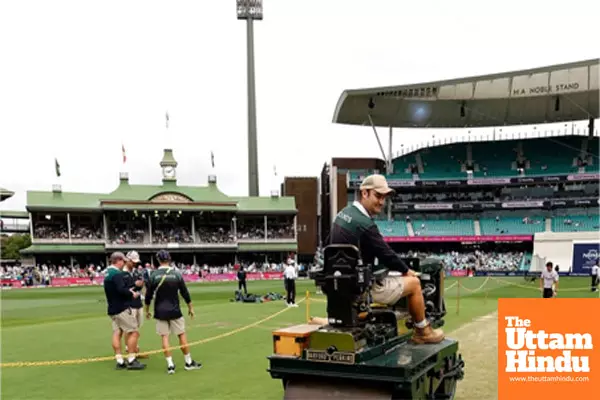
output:
[{"label": "dark brown tall structure adjoining right end of the green-roofed pavilion", "polygon": [[284,196],[294,196],[298,214],[298,255],[314,256],[317,251],[317,207],[319,183],[313,177],[286,177],[282,184]]}]

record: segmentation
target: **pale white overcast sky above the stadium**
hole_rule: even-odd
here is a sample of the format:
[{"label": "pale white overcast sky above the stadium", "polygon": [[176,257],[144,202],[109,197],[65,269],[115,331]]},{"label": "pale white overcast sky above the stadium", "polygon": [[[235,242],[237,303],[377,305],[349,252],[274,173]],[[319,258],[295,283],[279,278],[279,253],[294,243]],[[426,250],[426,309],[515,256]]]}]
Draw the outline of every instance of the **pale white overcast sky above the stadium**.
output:
[{"label": "pale white overcast sky above the stadium", "polygon": [[[264,0],[255,25],[261,195],[332,157],[379,157],[369,127],[331,123],[344,89],[505,72],[599,56],[593,1]],[[593,8],[596,8],[594,11]],[[0,2],[0,209],[27,190],[131,183],[248,193],[246,27],[235,0]],[[165,112],[170,127],[165,128]],[[396,130],[394,147],[431,132]],[[438,134],[439,137],[439,134]]]}]

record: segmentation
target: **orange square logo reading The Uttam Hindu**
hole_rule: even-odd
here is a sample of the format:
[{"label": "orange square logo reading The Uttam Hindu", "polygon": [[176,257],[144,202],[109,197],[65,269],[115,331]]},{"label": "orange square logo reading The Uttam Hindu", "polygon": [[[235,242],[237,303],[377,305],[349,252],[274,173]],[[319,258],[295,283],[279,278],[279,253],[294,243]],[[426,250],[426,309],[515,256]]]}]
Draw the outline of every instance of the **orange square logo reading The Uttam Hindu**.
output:
[{"label": "orange square logo reading The Uttam Hindu", "polygon": [[600,299],[498,300],[498,399],[532,398],[600,398]]}]

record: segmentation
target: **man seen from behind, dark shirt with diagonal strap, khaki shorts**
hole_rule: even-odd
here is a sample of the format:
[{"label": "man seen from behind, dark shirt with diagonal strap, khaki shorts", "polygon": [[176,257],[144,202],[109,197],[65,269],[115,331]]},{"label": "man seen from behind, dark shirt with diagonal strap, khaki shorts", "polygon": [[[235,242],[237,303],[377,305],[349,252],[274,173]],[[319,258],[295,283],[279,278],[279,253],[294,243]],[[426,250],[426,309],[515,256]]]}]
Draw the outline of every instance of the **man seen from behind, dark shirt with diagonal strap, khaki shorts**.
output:
[{"label": "man seen from behind, dark shirt with diagonal strap, khaki shorts", "polygon": [[169,266],[171,256],[166,250],[156,254],[160,267],[150,275],[146,290],[146,318],[151,318],[150,303],[154,300],[154,319],[156,319],[156,333],[162,338],[162,347],[167,359],[167,373],[175,373],[175,364],[169,350],[169,334],[179,338],[181,351],[185,358],[185,370],[199,369],[202,364],[192,359],[190,348],[185,334],[185,319],[179,306],[179,294],[188,306],[188,315],[194,318],[194,308],[190,292],[187,289],[183,276],[175,268]]}]

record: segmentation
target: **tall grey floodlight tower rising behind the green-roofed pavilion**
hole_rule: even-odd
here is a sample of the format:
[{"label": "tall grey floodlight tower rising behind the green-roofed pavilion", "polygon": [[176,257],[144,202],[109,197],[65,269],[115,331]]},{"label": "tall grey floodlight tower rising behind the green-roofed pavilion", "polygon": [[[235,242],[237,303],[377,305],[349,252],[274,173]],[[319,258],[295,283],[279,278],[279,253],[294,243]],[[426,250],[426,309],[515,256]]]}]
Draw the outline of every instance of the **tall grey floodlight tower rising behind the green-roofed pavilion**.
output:
[{"label": "tall grey floodlight tower rising behind the green-roofed pavilion", "polygon": [[248,191],[258,196],[258,145],[256,140],[256,87],[254,82],[254,20],[262,20],[262,0],[236,0],[238,19],[246,20],[248,61]]}]

